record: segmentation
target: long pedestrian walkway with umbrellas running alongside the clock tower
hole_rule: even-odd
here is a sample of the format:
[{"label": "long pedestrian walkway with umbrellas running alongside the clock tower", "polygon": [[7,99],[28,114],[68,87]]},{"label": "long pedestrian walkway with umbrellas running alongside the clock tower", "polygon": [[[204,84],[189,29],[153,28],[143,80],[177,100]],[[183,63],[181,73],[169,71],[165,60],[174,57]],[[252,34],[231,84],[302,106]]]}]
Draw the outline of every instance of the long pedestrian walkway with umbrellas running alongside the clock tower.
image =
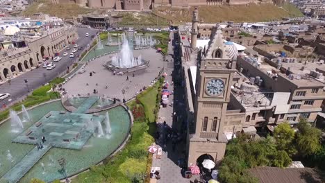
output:
[{"label": "long pedestrian walkway with umbrellas running alongside the clock tower", "polygon": [[[170,40],[174,40],[174,35],[171,33],[169,35]],[[167,105],[165,108],[161,108],[159,111],[159,119],[157,122],[158,131],[160,132],[160,137],[156,139],[156,143],[158,146],[163,148],[163,155],[161,159],[156,159],[156,155],[153,156],[153,167],[160,167],[160,180],[157,180],[158,183],[166,183],[166,182],[177,182],[177,183],[188,183],[189,179],[185,179],[181,175],[181,167],[178,166],[178,162],[184,162],[185,159],[185,146],[186,146],[186,130],[185,121],[183,121],[183,114],[185,112],[184,107],[181,103],[183,101],[183,89],[181,89],[180,83],[178,82],[178,69],[176,62],[177,58],[174,58],[174,46],[172,42],[168,47],[168,55],[166,57],[167,67],[165,67],[165,71],[167,72],[166,80],[169,83],[174,81],[174,85],[169,86],[169,90],[172,90],[174,87],[174,95],[169,96],[169,101],[173,101],[174,105]],[[175,55],[178,54],[175,51]],[[172,62],[173,60],[176,62]],[[175,70],[174,70],[175,69]],[[173,75],[173,78],[171,76]],[[173,113],[176,112],[174,116]],[[166,121],[167,126],[163,125],[163,122]],[[177,134],[176,143],[173,150],[173,140],[165,139],[167,133],[174,132]],[[192,181],[195,177],[192,177]]]}]

